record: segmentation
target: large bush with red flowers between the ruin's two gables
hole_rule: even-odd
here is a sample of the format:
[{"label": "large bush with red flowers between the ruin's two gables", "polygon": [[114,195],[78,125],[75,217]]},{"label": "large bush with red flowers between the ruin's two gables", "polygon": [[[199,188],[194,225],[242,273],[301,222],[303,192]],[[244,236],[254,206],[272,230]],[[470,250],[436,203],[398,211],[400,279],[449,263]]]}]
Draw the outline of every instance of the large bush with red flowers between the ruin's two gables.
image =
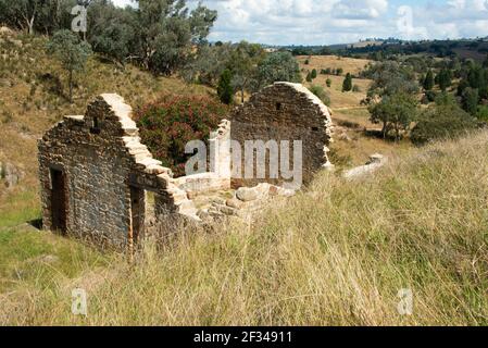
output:
[{"label": "large bush with red flowers between the ruin's two gables", "polygon": [[135,119],[141,140],[154,158],[171,167],[175,176],[182,176],[191,157],[185,154],[186,144],[207,141],[227,113],[228,107],[207,96],[163,95],[157,101],[138,108]]}]

